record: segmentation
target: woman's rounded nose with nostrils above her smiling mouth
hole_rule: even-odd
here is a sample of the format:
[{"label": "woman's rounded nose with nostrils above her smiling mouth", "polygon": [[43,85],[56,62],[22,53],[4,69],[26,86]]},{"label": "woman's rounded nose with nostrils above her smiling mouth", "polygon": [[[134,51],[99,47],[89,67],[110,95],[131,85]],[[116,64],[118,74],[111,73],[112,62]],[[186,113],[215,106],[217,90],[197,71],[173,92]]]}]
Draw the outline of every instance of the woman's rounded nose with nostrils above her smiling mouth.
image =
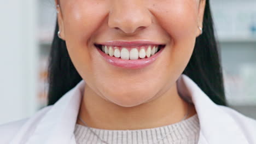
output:
[{"label": "woman's rounded nose with nostrils above her smiling mouth", "polygon": [[[120,2],[120,1],[119,1]],[[116,7],[115,7],[116,6]],[[152,23],[149,11],[139,5],[120,5],[115,4],[109,13],[108,26],[126,34],[132,34],[139,29],[149,27]]]}]

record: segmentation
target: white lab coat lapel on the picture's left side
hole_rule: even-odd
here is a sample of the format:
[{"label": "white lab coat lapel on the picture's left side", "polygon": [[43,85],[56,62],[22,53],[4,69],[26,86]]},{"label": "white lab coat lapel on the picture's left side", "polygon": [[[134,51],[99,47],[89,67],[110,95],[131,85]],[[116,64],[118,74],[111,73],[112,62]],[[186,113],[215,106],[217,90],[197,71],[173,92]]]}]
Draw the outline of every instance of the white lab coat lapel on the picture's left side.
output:
[{"label": "white lab coat lapel on the picture's left side", "polygon": [[39,122],[28,143],[76,143],[73,135],[85,81],[63,95]]}]

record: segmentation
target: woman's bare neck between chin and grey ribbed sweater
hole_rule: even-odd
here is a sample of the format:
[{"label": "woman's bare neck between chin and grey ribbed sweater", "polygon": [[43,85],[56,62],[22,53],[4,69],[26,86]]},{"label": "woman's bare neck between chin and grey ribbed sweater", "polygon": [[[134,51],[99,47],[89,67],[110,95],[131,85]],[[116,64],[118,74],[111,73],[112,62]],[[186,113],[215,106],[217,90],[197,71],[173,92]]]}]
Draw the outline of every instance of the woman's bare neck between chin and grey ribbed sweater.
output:
[{"label": "woman's bare neck between chin and grey ribbed sweater", "polygon": [[[188,109],[187,118],[196,113],[195,107],[179,97],[176,85],[160,97],[133,107],[123,107],[107,101],[86,85],[78,116],[92,128],[133,130],[180,122],[187,115]],[[77,123],[83,125],[79,120]]]}]

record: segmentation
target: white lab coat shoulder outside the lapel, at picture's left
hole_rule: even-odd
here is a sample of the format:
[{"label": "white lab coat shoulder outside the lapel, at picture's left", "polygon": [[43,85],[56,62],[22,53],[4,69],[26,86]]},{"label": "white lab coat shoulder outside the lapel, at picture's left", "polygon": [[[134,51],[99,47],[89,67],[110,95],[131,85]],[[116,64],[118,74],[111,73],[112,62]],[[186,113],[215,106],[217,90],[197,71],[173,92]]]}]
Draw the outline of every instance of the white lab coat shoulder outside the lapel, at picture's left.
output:
[{"label": "white lab coat shoulder outside the lapel, at picture's left", "polygon": [[44,113],[47,112],[51,106],[46,106],[40,109],[31,117],[23,118],[18,121],[8,122],[0,125],[0,143],[9,143],[21,130],[31,131],[30,129],[40,121]]}]

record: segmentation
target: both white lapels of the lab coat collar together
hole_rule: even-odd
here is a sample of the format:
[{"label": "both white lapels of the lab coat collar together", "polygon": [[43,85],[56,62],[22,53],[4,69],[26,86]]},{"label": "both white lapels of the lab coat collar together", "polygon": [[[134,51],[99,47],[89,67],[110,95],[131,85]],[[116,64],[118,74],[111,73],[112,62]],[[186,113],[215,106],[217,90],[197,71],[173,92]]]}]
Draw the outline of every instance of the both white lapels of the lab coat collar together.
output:
[{"label": "both white lapels of the lab coat collar together", "polygon": [[[27,143],[75,144],[74,127],[83,95],[82,80],[63,95],[37,124]],[[179,94],[195,105],[200,122],[200,144],[243,143],[248,144],[242,130],[234,119],[213,103],[188,76],[182,74],[177,80]]]}]

